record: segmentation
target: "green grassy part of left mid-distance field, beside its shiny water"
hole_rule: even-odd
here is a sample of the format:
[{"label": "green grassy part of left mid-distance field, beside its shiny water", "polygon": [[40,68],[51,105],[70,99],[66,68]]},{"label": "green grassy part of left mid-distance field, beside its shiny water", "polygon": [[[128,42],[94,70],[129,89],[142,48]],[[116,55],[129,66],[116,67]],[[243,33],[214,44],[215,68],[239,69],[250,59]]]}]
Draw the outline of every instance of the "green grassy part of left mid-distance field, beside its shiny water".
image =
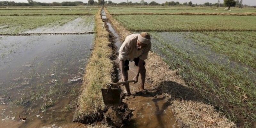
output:
[{"label": "green grassy part of left mid-distance field, beside its shiny water", "polygon": [[[0,33],[20,33],[26,30],[42,27],[63,25],[79,16],[2,16]],[[93,22],[93,16],[84,16],[86,22]]]}]

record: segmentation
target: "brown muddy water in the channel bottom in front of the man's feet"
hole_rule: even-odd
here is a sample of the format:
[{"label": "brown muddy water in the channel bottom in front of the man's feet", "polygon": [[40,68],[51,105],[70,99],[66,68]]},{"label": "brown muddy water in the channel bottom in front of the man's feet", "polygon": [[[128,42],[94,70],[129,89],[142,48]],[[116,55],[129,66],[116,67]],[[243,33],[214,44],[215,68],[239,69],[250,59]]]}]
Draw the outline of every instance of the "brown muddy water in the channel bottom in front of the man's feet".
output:
[{"label": "brown muddy water in the channel bottom in front of the man's feet", "polygon": [[132,127],[145,128],[178,128],[169,104],[164,97],[136,96],[124,101],[133,111],[135,122]]}]

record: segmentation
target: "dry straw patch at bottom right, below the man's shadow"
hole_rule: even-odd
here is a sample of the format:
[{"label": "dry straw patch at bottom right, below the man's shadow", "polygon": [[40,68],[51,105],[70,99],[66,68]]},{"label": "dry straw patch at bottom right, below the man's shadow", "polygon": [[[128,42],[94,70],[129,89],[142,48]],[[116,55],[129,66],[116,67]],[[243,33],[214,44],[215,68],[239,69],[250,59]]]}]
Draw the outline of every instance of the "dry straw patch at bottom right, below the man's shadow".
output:
[{"label": "dry straw patch at bottom right, below the man's shadow", "polygon": [[202,102],[173,100],[172,111],[176,118],[191,128],[235,128],[236,125],[211,105]]}]

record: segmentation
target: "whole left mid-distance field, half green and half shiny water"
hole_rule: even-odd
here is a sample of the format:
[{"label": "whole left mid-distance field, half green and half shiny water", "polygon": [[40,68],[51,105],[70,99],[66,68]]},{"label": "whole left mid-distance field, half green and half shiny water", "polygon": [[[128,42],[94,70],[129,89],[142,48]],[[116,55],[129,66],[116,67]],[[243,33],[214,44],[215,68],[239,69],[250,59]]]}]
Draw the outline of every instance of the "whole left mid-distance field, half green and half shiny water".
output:
[{"label": "whole left mid-distance field, half green and half shiny water", "polygon": [[2,16],[0,33],[88,32],[93,20],[93,16]]}]

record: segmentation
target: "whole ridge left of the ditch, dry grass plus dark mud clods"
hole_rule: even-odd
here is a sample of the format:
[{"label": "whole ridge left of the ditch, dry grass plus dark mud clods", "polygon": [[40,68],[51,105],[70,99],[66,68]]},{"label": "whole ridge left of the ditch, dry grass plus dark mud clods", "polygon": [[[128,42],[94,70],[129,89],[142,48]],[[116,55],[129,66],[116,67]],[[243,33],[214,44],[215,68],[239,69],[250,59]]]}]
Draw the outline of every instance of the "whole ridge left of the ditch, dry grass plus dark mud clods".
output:
[{"label": "whole ridge left of the ditch, dry grass plus dark mud clods", "polygon": [[[81,95],[78,98],[78,107],[74,115],[74,122],[84,124],[108,123],[114,127],[128,125],[132,111],[125,104],[119,107],[106,107],[103,103],[101,88],[116,81],[116,47],[111,35],[101,19],[100,11],[95,16],[96,37],[92,57],[86,66],[84,83]],[[106,127],[106,125],[104,125]]]}]

